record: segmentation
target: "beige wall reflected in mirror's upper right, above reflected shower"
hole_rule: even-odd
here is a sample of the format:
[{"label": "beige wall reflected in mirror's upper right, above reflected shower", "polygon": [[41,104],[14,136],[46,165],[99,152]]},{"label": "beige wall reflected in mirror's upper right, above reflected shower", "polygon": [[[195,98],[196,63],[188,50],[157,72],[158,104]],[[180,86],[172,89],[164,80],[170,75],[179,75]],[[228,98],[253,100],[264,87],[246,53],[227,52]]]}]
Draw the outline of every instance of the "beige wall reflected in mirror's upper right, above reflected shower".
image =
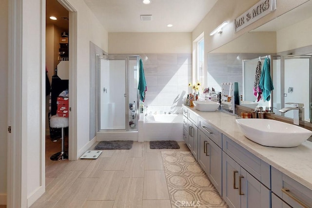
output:
[{"label": "beige wall reflected in mirror's upper right, above reflected shower", "polygon": [[277,31],[277,53],[312,45],[311,34],[312,18],[305,19]]}]

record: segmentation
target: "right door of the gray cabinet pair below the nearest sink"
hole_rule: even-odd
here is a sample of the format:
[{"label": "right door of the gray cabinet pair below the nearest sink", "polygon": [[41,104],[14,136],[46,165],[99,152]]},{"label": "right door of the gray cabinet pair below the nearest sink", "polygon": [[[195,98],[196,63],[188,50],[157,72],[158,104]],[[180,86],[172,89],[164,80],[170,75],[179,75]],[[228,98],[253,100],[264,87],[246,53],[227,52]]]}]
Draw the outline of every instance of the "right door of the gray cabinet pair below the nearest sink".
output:
[{"label": "right door of the gray cabinet pair below the nearest sink", "polygon": [[261,184],[245,169],[238,175],[238,194],[241,196],[241,208],[270,208],[271,191]]}]

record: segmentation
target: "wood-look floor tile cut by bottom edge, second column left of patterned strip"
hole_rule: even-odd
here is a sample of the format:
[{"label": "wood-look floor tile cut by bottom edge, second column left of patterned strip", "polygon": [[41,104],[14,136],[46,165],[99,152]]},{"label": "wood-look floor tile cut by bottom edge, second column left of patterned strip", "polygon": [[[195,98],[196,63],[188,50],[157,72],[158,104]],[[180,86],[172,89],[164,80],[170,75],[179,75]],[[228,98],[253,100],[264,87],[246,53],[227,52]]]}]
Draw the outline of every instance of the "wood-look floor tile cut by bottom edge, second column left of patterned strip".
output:
[{"label": "wood-look floor tile cut by bottom edge, second column left of patterned strip", "polygon": [[143,178],[122,178],[114,203],[114,208],[141,208]]}]

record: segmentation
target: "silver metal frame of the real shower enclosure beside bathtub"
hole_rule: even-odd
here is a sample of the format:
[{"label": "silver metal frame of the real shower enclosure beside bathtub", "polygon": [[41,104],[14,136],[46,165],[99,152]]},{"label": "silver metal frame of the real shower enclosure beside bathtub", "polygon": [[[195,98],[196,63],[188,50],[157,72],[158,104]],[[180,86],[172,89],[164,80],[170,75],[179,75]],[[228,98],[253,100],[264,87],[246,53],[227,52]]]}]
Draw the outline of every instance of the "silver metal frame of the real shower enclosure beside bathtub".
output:
[{"label": "silver metal frame of the real shower enclosure beside bathtub", "polygon": [[[137,96],[136,96],[136,104],[135,104],[135,117],[136,117],[136,129],[132,130],[130,128],[129,125],[129,121],[130,121],[130,113],[129,113],[129,104],[130,104],[130,89],[129,89],[129,83],[130,83],[130,73],[129,73],[129,61],[133,60],[134,58],[136,58],[136,67],[137,67],[137,82],[138,82],[138,76],[139,76],[139,59],[140,56],[119,56],[119,55],[103,55],[103,56],[99,56],[97,55],[97,92],[96,92],[96,97],[97,97],[97,132],[137,132],[138,131],[138,127],[137,127],[137,123],[138,123],[138,116],[139,116],[139,93],[137,90]],[[101,59],[105,59],[105,60],[125,60],[125,129],[101,129],[101,93],[102,90],[101,89],[101,64],[100,61]],[[136,86],[137,88],[137,86]]]}]

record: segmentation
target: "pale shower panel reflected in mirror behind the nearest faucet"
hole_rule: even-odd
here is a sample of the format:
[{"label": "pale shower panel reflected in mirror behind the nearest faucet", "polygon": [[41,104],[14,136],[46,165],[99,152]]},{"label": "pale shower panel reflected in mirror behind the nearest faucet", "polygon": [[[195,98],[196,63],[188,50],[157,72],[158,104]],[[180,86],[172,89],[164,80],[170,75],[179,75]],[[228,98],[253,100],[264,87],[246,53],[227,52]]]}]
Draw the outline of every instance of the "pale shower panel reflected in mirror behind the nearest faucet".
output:
[{"label": "pale shower panel reflected in mirror behind the nearest faucet", "polygon": [[[311,57],[285,57],[284,61],[284,103],[303,103],[304,118],[310,122],[310,79]],[[291,107],[292,105],[284,105]],[[293,111],[284,116],[293,118]]]}]

